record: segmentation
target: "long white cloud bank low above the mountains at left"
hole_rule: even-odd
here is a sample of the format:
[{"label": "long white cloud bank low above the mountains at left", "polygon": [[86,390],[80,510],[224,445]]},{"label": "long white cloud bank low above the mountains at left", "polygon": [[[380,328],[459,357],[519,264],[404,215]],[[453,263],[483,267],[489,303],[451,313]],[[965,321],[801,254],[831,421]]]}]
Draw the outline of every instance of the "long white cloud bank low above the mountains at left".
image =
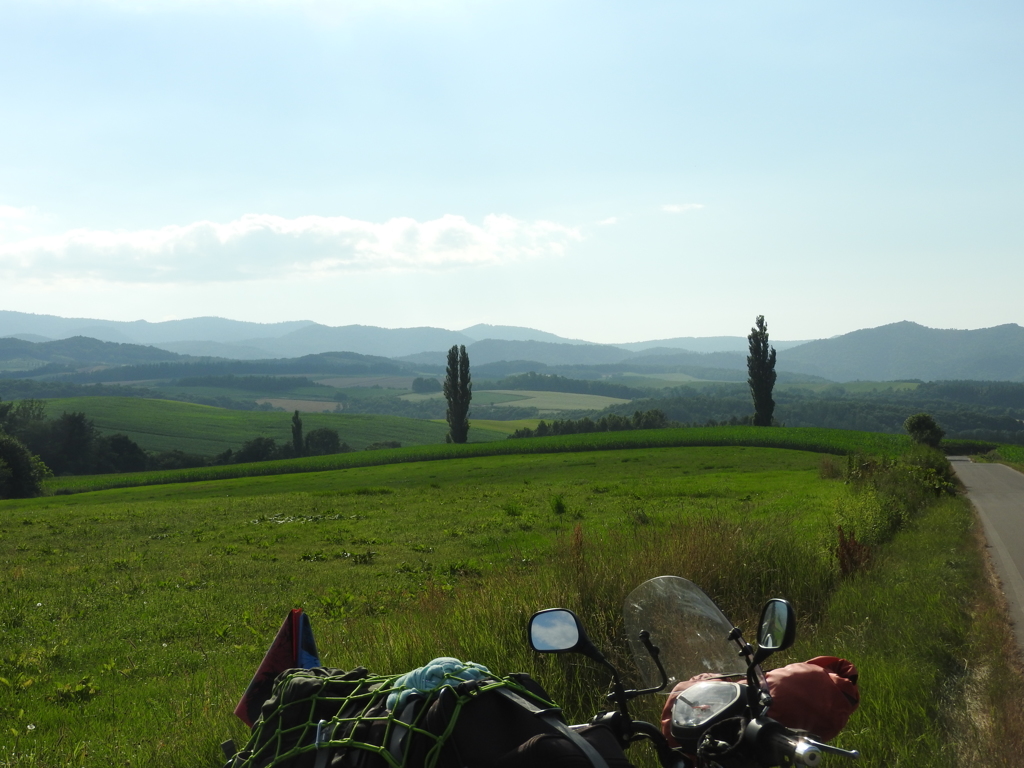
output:
[{"label": "long white cloud bank low above the mountains at left", "polygon": [[489,215],[383,223],[247,214],[137,231],[75,229],[0,245],[0,274],[116,283],[211,283],[372,270],[437,270],[558,257],[579,229]]}]

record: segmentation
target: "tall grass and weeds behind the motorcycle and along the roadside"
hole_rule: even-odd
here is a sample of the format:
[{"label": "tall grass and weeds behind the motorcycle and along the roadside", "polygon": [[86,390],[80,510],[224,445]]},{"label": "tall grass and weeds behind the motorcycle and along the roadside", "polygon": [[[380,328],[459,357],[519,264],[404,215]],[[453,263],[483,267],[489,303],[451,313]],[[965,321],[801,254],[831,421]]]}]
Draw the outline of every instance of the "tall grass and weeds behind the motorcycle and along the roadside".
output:
[{"label": "tall grass and weeds behind the motorcycle and along the roadside", "polygon": [[[855,509],[838,510],[837,519],[872,529],[874,559],[846,579],[835,549],[800,536],[788,520],[701,517],[640,523],[597,538],[577,526],[546,567],[524,564],[514,575],[432,590],[397,631],[352,622],[323,636],[340,649],[343,667],[403,670],[435,652],[484,664],[502,659],[498,671],[529,672],[570,720],[584,721],[605,706],[606,674],[579,657],[530,653],[523,636],[528,615],[540,607],[572,608],[629,677],[623,600],[647,579],[682,575],[749,630],[765,599],[788,597],[801,616],[802,639],[779,664],[824,654],[859,666],[863,706],[838,743],[860,750],[861,765],[1015,765],[1024,708],[1008,693],[1020,677],[1000,659],[1005,646],[991,639],[986,646],[982,637],[991,632],[992,607],[973,612],[990,593],[971,538],[970,508],[936,496],[905,465],[876,469],[851,497]],[[909,510],[907,497],[916,500]],[[878,525],[881,519],[887,523]],[[1006,640],[1006,632],[996,635]],[[980,682],[976,664],[985,668]],[[656,719],[663,701],[640,699],[635,714]]]}]

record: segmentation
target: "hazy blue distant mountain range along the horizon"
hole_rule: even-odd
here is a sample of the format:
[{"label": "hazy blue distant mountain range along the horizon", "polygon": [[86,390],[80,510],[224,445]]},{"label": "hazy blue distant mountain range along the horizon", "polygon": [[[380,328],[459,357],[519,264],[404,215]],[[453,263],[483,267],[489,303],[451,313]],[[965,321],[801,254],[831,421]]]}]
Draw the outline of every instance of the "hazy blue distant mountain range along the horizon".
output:
[{"label": "hazy blue distant mountain range along the horizon", "polygon": [[[483,370],[496,375],[530,370],[572,375],[573,369],[586,368],[581,376],[636,370],[742,381],[746,368],[745,337],[680,337],[613,345],[512,326],[477,325],[462,331],[333,328],[305,321],[256,324],[219,317],[116,323],[0,311],[0,337],[16,337],[0,338],[0,371],[6,376],[90,367],[188,365],[196,357],[266,360],[264,367],[275,370],[284,359],[305,356],[311,362],[310,355],[339,352],[346,353],[345,365],[365,356],[367,360],[358,365],[379,367],[390,358],[401,370],[436,372],[442,370],[445,350],[453,344],[465,344],[474,367],[486,367]],[[778,350],[780,380],[784,374],[788,381],[1024,381],[1024,328],[1014,324],[957,331],[903,322],[831,339],[772,344]],[[253,371],[257,369],[259,365],[254,365]]]}]

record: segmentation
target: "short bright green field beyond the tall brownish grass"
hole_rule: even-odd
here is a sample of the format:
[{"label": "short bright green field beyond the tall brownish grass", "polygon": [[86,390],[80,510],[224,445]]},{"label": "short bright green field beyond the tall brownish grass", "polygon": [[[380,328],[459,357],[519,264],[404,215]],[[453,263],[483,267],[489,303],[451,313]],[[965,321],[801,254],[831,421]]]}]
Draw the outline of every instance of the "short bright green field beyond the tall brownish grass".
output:
[{"label": "short bright green field beyond the tall brownish grass", "polygon": [[4,502],[0,677],[16,692],[0,708],[18,735],[5,728],[0,750],[35,765],[219,765],[289,608],[307,609],[326,664],[372,664],[347,639],[353,617],[391,632],[425,591],[541,562],[577,525],[713,514],[816,536],[844,487],[819,463],[742,447],[495,457]]}]

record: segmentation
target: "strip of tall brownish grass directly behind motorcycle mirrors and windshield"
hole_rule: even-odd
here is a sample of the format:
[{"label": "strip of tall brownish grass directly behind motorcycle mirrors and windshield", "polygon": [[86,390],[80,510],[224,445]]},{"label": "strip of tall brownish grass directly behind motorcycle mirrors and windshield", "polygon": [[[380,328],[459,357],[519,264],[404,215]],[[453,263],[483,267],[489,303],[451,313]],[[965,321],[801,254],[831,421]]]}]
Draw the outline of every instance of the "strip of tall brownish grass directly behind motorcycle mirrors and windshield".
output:
[{"label": "strip of tall brownish grass directly behind motorcycle mirrors and windshield", "polygon": [[[498,673],[527,672],[571,722],[585,722],[606,708],[608,676],[579,656],[532,653],[524,634],[527,618],[544,607],[573,609],[598,647],[638,684],[622,625],[623,601],[640,583],[667,573],[700,585],[749,630],[771,596],[786,595],[805,617],[819,614],[838,578],[827,553],[816,551],[785,520],[739,524],[707,516],[594,536],[577,525],[543,565],[522,563],[500,577],[429,589],[383,623],[349,615],[315,628],[322,647],[333,649],[332,664],[341,668],[402,671],[454,655]],[[642,699],[635,714],[656,720],[663,702],[657,696]],[[634,752],[640,757],[643,751]]]}]

